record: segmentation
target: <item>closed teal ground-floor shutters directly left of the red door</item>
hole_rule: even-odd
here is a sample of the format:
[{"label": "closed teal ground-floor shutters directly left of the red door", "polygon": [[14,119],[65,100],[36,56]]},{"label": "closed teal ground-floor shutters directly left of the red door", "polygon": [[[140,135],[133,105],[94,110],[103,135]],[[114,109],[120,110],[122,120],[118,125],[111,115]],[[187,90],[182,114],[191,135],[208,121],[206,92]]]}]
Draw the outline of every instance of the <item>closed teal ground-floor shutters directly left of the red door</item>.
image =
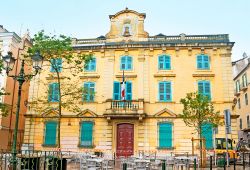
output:
[{"label": "closed teal ground-floor shutters directly left of the red door", "polygon": [[93,145],[93,122],[82,122],[81,123],[81,146],[92,146]]}]

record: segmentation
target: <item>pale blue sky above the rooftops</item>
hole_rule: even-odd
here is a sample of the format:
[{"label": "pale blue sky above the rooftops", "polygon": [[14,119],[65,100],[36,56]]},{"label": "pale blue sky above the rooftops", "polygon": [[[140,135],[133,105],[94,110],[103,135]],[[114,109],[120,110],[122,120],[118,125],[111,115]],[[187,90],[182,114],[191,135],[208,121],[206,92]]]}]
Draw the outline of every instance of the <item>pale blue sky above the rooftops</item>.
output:
[{"label": "pale blue sky above the rooftops", "polygon": [[250,55],[250,0],[2,0],[0,25],[22,34],[41,29],[76,38],[105,35],[109,15],[125,9],[146,13],[150,35],[229,34],[232,60]]}]

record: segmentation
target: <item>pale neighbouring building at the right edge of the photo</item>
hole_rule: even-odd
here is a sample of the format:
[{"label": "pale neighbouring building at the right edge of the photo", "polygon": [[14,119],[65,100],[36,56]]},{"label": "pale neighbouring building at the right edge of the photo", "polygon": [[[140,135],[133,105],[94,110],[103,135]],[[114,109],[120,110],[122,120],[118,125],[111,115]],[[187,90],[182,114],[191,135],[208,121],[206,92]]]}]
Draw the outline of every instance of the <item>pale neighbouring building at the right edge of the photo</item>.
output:
[{"label": "pale neighbouring building at the right edge of the photo", "polygon": [[250,141],[250,57],[243,54],[243,58],[234,61],[234,110],[240,115],[238,119],[239,139]]}]

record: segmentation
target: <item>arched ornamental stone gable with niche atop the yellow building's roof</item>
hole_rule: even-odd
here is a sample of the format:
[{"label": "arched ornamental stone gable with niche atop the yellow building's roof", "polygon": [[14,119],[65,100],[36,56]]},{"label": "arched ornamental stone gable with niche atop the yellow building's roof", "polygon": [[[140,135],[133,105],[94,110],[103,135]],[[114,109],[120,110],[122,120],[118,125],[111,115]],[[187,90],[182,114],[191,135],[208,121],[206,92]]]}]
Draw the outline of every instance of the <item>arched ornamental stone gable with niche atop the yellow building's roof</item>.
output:
[{"label": "arched ornamental stone gable with niche atop the yellow building's roof", "polygon": [[148,33],[144,31],[144,19],[146,14],[138,13],[126,8],[115,15],[109,16],[111,27],[106,34],[107,41],[139,41],[147,38]]}]

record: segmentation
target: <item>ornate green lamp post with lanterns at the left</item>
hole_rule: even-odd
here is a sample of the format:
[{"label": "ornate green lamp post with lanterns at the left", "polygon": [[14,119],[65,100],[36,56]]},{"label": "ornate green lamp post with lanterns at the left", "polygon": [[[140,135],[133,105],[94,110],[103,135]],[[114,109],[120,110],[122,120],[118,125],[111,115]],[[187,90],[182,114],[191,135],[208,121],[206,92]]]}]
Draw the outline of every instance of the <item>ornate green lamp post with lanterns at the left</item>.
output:
[{"label": "ornate green lamp post with lanterns at the left", "polygon": [[19,121],[19,111],[20,111],[20,102],[21,102],[21,93],[22,93],[22,85],[25,81],[34,77],[39,70],[42,68],[43,57],[39,54],[39,52],[35,53],[34,56],[31,57],[33,62],[33,68],[35,69],[35,74],[25,74],[24,72],[24,60],[21,63],[21,69],[18,75],[9,75],[9,72],[13,69],[15,65],[16,59],[12,56],[11,52],[8,52],[6,56],[3,56],[4,69],[6,70],[6,74],[8,77],[12,77],[14,80],[18,81],[18,99],[17,99],[17,109],[16,109],[16,121],[15,121],[15,129],[13,134],[13,145],[12,145],[12,165],[13,170],[17,168],[17,131],[18,131],[18,121]]}]

